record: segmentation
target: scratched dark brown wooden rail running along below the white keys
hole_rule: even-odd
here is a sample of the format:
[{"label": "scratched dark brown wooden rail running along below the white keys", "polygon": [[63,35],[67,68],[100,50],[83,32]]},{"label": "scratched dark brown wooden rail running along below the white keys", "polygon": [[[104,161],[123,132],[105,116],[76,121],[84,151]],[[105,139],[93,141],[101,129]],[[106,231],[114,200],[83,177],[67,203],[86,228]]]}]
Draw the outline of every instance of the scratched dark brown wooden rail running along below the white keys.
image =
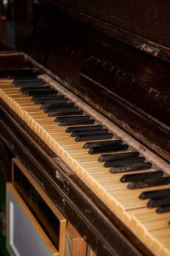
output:
[{"label": "scratched dark brown wooden rail running along below the white keys", "polygon": [[55,163],[54,152],[44,150],[42,141],[2,100],[0,116],[0,137],[97,255],[152,255],[76,175]]}]

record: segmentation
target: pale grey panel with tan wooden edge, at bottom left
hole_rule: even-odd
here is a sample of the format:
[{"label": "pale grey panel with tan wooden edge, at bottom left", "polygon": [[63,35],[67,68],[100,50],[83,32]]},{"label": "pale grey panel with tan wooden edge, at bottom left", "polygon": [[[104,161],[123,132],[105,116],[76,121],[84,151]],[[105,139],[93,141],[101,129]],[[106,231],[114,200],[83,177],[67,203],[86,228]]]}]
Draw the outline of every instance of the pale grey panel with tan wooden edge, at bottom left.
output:
[{"label": "pale grey panel with tan wooden edge, at bottom left", "polygon": [[11,255],[59,255],[12,183],[6,183],[6,206],[6,247]]}]

